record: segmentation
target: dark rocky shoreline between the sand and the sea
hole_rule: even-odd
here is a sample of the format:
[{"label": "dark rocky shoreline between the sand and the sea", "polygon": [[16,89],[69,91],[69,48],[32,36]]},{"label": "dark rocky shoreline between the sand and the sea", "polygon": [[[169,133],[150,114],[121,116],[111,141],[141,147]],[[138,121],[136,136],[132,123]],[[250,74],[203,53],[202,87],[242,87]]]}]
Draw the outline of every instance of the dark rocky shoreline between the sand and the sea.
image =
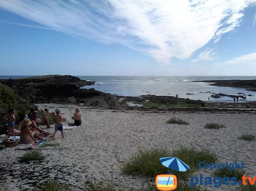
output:
[{"label": "dark rocky shoreline between the sand and the sea", "polygon": [[[218,81],[218,82],[217,82]],[[237,81],[242,81],[238,83]],[[246,83],[249,81],[248,83]],[[253,81],[253,83],[251,82]],[[253,89],[256,80],[204,80],[203,82],[216,82],[213,86],[230,86],[230,87],[247,87]],[[233,83],[232,83],[233,82]],[[46,75],[35,76],[29,78],[4,79],[0,83],[11,87],[17,91],[20,97],[27,102],[29,98],[35,97],[35,103],[58,103],[58,104],[74,104],[88,107],[103,107],[109,109],[125,108],[140,109],[145,108],[215,108],[215,103],[206,103],[201,100],[190,100],[188,98],[177,98],[172,96],[156,96],[141,95],[139,97],[119,96],[97,91],[94,88],[84,88],[95,84],[93,81],[81,80],[78,77],[70,75]],[[239,85],[238,85],[239,84]],[[213,96],[229,96],[234,95],[216,94]],[[250,96],[250,95],[248,95]],[[239,95],[244,99],[244,95]],[[131,106],[132,103],[133,106]],[[250,102],[252,105],[254,103]],[[217,104],[218,105],[218,104]],[[222,104],[225,105],[225,104]],[[245,106],[243,104],[225,105],[230,108]],[[221,107],[220,105],[220,108]]]}]

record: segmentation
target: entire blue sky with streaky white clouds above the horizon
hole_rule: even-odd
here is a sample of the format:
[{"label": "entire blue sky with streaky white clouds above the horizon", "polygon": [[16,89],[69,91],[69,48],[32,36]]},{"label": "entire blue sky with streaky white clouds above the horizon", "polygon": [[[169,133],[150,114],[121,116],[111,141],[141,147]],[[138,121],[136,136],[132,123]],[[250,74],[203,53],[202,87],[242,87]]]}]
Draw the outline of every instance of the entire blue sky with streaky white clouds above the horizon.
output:
[{"label": "entire blue sky with streaky white clouds above the horizon", "polygon": [[256,0],[0,0],[0,75],[256,76]]}]

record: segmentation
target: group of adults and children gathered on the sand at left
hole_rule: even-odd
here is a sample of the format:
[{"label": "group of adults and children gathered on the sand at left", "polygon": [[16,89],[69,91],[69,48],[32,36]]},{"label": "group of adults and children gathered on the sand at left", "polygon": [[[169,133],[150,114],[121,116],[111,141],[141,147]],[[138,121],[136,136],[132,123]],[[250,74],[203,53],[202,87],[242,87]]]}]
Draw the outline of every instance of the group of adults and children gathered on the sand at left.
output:
[{"label": "group of adults and children gathered on the sand at left", "polygon": [[[48,109],[44,109],[45,112],[49,111]],[[64,138],[63,133],[63,118],[61,116],[60,109],[55,109],[55,112],[47,112],[49,114],[54,115],[54,121],[55,121],[55,129],[54,133],[52,135],[52,139],[55,139],[55,134],[58,131],[61,131],[62,138]],[[79,108],[75,109],[74,116],[72,117],[74,120],[74,123],[68,123],[68,125],[71,126],[78,126],[81,125],[81,112]],[[47,128],[52,128],[49,125],[49,120],[47,117],[42,117],[41,120],[38,120],[38,114],[35,112],[35,108],[31,108],[29,111],[29,114],[25,115],[25,119],[23,120],[23,123],[21,125],[20,131],[15,129],[15,110],[13,108],[10,108],[8,111],[8,114],[6,116],[7,120],[7,135],[10,137],[20,135],[20,143],[32,143],[33,141],[35,143],[38,143],[38,140],[43,140],[44,137],[48,137],[50,135],[49,132],[44,131],[44,129],[38,127],[40,124],[46,124]]]}]

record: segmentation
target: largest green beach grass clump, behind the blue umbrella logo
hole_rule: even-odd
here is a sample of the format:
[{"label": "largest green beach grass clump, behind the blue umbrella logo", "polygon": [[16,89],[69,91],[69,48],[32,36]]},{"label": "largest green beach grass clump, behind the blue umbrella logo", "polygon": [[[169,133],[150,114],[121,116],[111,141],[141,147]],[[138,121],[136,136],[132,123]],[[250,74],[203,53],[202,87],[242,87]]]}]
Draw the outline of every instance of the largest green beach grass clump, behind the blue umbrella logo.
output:
[{"label": "largest green beach grass clump, behind the blue umbrella logo", "polygon": [[157,174],[169,174],[170,169],[163,166],[159,161],[161,157],[177,157],[189,165],[189,171],[174,171],[173,174],[175,174],[178,179],[188,178],[192,172],[198,169],[198,163],[201,161],[209,163],[218,161],[218,156],[206,149],[197,151],[195,148],[180,145],[179,148],[173,151],[167,148],[151,148],[150,150],[139,149],[128,162],[125,162],[122,166],[122,170],[126,174],[144,174],[151,177]]}]

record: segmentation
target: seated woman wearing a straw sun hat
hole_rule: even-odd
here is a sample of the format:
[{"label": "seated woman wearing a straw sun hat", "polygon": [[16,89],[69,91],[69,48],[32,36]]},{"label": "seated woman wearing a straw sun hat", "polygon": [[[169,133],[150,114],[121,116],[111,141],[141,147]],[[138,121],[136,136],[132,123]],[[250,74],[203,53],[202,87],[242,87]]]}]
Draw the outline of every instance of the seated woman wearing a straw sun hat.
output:
[{"label": "seated woman wearing a straw sun hat", "polygon": [[38,143],[35,138],[43,140],[43,137],[40,137],[37,133],[34,131],[30,131],[29,125],[31,125],[32,122],[29,119],[24,119],[23,124],[20,128],[20,143],[32,143],[35,141],[35,143]]}]

